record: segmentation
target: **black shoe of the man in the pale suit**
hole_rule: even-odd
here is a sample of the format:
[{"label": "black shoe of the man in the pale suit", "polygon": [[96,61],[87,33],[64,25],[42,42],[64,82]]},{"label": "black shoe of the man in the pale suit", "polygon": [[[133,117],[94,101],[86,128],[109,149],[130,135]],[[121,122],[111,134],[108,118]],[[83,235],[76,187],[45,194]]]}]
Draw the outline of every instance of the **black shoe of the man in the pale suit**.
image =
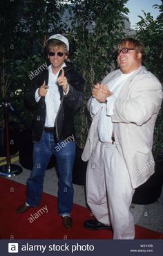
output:
[{"label": "black shoe of the man in the pale suit", "polygon": [[97,219],[90,219],[85,221],[84,228],[87,228],[88,230],[112,230],[111,225],[105,225],[97,221]]}]

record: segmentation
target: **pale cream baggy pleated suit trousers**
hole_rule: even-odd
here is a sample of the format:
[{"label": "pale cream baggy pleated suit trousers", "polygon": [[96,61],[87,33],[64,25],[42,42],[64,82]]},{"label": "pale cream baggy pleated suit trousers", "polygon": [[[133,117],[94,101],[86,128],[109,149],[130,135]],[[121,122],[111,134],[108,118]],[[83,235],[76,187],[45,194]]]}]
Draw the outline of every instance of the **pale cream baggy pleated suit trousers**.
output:
[{"label": "pale cream baggy pleated suit trousers", "polygon": [[95,218],[112,225],[113,239],[135,237],[129,210],[134,191],[124,159],[115,144],[98,142],[88,160],[86,196]]}]

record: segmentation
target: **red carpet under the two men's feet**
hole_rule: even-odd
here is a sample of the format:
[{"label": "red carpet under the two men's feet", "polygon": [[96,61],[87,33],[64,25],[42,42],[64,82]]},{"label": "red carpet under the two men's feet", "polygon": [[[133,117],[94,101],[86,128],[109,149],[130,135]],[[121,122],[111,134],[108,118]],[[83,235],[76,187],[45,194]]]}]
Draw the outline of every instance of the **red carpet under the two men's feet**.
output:
[{"label": "red carpet under the two men's feet", "polygon": [[[73,207],[73,228],[67,230],[57,215],[57,198],[44,193],[41,204],[24,214],[15,209],[26,199],[26,186],[0,177],[1,239],[112,239],[108,230],[90,231],[82,227],[92,218],[89,210]],[[136,239],[163,239],[163,234],[136,226]]]}]

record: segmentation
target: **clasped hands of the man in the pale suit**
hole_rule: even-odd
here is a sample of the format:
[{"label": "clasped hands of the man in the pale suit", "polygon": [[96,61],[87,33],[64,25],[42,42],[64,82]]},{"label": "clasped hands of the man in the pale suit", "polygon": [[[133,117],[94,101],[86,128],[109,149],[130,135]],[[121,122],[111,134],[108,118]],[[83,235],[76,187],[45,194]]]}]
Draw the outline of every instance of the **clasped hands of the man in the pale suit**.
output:
[{"label": "clasped hands of the man in the pale suit", "polygon": [[106,98],[113,95],[113,92],[108,89],[106,85],[97,83],[92,89],[93,98],[97,99],[100,103],[106,102]]}]

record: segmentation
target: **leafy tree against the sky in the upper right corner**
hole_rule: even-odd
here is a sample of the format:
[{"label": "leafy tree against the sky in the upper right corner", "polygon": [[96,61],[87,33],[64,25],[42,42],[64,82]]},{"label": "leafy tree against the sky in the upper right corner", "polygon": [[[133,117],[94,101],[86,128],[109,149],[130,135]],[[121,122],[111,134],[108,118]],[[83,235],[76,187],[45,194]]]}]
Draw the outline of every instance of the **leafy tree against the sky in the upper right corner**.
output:
[{"label": "leafy tree against the sky in the upper right corner", "polygon": [[155,5],[155,8],[160,10],[160,15],[157,19],[153,19],[151,13],[144,12],[144,17],[140,22],[137,22],[137,34],[138,40],[144,43],[146,48],[146,67],[153,72],[157,78],[163,83],[163,19],[161,6]]}]

